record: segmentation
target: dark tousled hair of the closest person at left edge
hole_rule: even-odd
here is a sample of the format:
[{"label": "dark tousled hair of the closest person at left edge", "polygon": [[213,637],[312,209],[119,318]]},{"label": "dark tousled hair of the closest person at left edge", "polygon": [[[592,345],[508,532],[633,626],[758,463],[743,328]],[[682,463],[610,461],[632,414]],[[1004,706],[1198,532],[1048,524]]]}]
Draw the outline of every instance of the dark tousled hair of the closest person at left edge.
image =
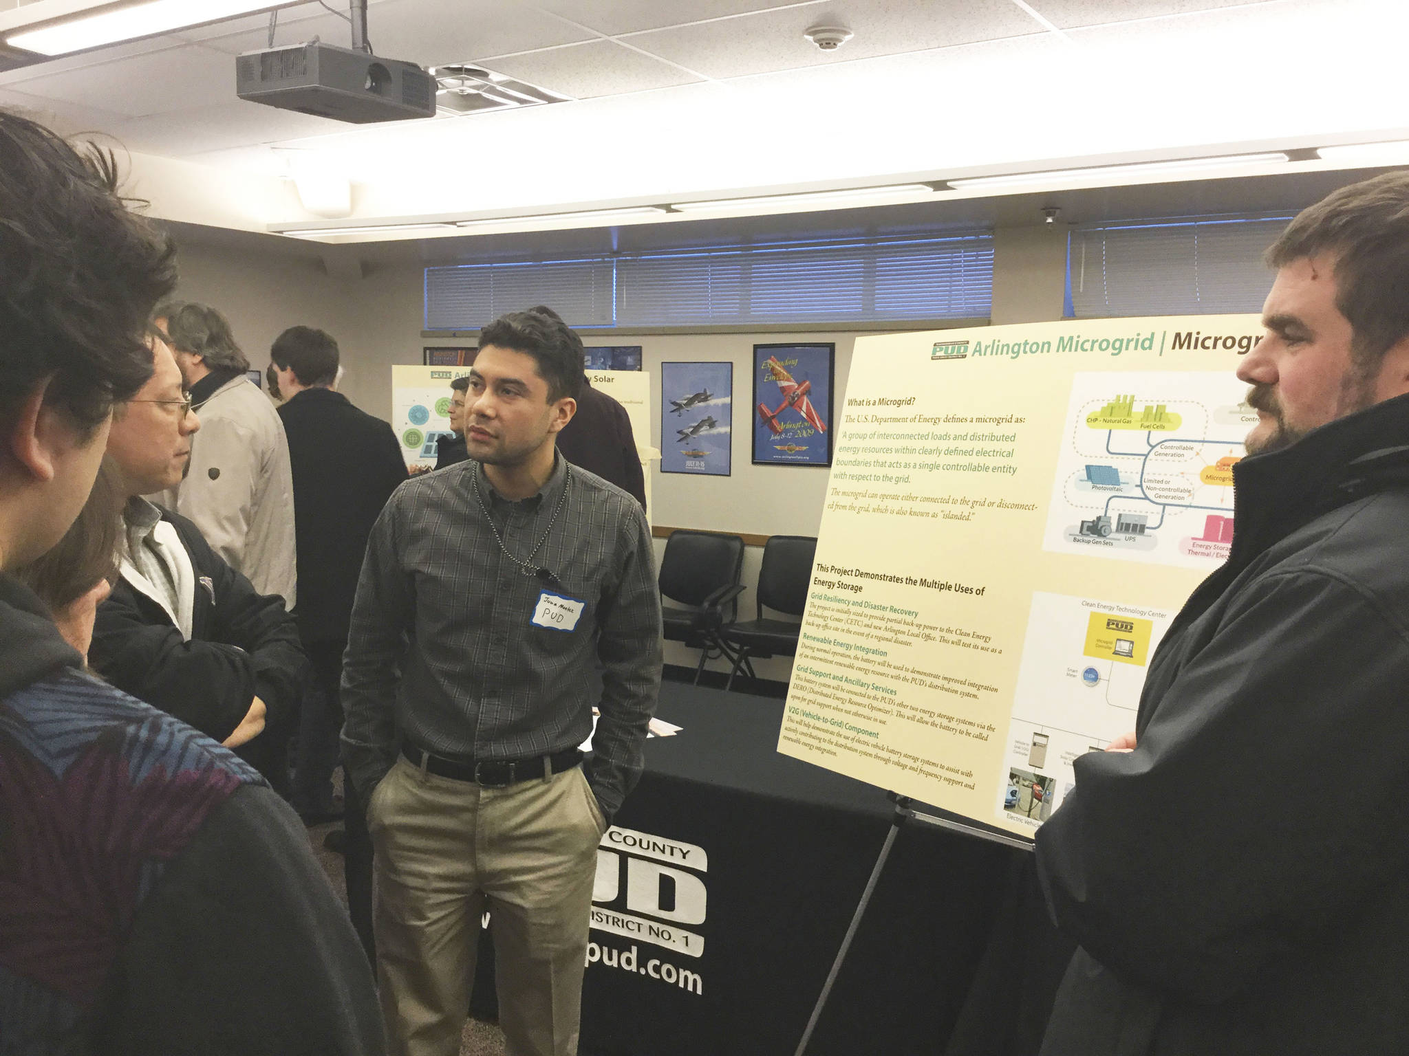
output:
[{"label": "dark tousled hair of the closest person at left edge", "polygon": [[45,401],[92,435],[152,375],[147,321],[176,284],[176,248],[117,186],[111,151],[0,110],[3,425],[49,377]]}]

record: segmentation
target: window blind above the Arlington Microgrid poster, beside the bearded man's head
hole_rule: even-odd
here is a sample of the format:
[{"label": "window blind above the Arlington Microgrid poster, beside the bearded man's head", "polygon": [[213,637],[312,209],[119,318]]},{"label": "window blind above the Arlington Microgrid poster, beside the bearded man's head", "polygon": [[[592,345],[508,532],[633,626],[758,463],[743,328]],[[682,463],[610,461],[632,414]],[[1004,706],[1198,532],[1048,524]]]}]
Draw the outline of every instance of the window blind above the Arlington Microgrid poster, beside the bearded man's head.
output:
[{"label": "window blind above the Arlington Microgrid poster, beside the bearded man's head", "polygon": [[1078,227],[1068,242],[1076,318],[1260,311],[1262,252],[1291,217],[1189,217]]}]

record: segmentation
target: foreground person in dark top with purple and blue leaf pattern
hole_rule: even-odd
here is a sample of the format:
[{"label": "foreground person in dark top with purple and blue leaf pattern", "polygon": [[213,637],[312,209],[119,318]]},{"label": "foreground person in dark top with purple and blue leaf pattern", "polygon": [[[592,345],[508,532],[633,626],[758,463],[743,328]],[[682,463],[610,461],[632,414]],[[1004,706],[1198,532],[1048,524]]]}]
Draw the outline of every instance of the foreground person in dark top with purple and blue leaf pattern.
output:
[{"label": "foreground person in dark top with purple and blue leaf pattern", "polygon": [[100,538],[65,536],[114,404],[152,375],[148,317],[176,280],[169,237],[116,186],[111,155],[0,111],[0,1038],[376,1053],[371,974],[293,812],[214,741],[85,672],[14,574],[72,548],[72,576],[37,580],[61,604],[103,565]]}]

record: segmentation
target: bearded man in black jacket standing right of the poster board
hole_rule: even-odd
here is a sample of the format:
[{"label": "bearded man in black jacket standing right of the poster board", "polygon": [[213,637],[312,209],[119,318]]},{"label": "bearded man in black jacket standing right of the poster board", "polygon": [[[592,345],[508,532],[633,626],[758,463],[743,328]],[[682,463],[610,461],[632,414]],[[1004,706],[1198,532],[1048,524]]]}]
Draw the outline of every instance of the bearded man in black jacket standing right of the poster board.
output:
[{"label": "bearded man in black jacket standing right of the poster board", "polygon": [[1409,1052],[1409,172],[1268,263],[1231,553],[1037,832],[1044,1056]]}]

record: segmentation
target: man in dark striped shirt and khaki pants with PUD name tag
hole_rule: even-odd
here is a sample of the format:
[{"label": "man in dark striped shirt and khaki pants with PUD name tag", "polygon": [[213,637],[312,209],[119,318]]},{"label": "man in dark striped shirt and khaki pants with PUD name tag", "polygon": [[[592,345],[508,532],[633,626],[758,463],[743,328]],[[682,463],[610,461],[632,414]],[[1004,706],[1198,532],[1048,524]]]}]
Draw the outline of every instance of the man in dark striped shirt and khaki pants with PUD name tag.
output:
[{"label": "man in dark striped shirt and khaki pants with PUD name tag", "polygon": [[485,908],[509,1050],[576,1052],[597,842],[641,773],[661,601],[641,507],[554,446],[575,338],[534,313],[483,329],[471,460],[402,484],[362,566],[342,742],[396,1053],[459,1052]]}]

